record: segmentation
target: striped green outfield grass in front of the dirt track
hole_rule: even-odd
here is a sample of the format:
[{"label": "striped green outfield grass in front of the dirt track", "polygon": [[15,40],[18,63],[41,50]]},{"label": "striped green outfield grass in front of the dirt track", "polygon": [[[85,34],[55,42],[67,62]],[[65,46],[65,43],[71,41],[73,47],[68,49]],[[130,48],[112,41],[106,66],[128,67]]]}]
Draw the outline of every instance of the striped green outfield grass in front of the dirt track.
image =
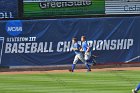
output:
[{"label": "striped green outfield grass in front of the dirt track", "polygon": [[0,75],[0,93],[131,93],[140,71]]}]

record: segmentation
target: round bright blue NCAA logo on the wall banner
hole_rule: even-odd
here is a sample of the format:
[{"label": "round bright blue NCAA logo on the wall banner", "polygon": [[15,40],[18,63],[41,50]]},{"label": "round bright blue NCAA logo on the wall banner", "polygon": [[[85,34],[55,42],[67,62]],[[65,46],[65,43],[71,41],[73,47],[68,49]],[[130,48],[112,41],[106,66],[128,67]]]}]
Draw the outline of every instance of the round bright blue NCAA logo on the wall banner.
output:
[{"label": "round bright blue NCAA logo on the wall banner", "polygon": [[11,20],[6,24],[6,31],[11,36],[18,36],[23,31],[20,20]]}]

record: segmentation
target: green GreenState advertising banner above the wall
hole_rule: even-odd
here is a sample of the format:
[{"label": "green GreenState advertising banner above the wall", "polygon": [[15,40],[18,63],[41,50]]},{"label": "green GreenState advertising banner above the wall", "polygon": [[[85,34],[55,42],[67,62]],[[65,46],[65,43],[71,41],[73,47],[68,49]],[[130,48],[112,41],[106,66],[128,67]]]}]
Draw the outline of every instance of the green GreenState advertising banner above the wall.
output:
[{"label": "green GreenState advertising banner above the wall", "polygon": [[24,17],[84,16],[105,13],[104,0],[23,0]]}]

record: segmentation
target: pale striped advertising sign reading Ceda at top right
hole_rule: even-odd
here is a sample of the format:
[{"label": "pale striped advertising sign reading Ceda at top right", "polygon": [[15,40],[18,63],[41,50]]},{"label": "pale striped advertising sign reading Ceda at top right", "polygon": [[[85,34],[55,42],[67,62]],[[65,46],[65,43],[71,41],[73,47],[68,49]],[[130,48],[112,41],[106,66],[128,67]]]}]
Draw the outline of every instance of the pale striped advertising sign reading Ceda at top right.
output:
[{"label": "pale striped advertising sign reading Ceda at top right", "polygon": [[106,14],[140,14],[140,0],[106,0]]}]

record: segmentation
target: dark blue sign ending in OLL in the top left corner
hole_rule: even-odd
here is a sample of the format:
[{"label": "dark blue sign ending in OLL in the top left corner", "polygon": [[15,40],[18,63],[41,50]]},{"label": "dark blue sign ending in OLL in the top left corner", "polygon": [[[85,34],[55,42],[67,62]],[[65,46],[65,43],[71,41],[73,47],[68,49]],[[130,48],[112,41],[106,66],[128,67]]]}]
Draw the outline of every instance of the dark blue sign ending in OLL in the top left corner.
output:
[{"label": "dark blue sign ending in OLL in the top left corner", "polygon": [[0,0],[0,19],[18,17],[18,0]]}]

